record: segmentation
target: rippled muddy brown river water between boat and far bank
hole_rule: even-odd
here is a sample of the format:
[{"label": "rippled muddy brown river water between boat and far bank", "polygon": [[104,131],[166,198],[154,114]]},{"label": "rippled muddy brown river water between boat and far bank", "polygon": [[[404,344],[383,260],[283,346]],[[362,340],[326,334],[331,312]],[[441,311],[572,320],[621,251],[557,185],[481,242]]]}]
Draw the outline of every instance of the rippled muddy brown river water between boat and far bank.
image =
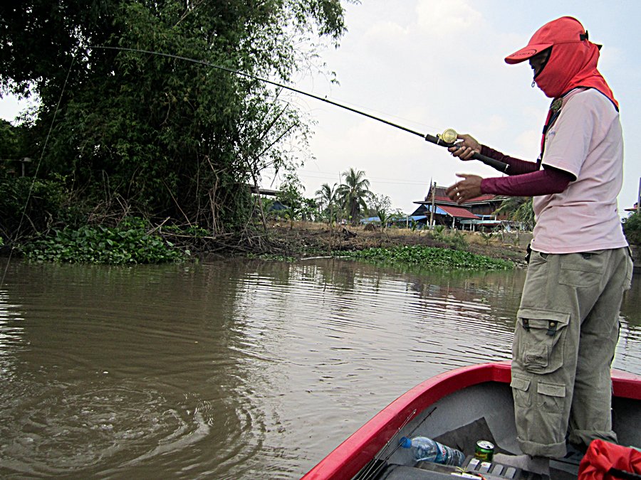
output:
[{"label": "rippled muddy brown river water between boat and far bank", "polygon": [[[296,479],[453,367],[510,358],[523,270],[0,261],[0,477]],[[641,278],[615,367],[641,373]]]}]

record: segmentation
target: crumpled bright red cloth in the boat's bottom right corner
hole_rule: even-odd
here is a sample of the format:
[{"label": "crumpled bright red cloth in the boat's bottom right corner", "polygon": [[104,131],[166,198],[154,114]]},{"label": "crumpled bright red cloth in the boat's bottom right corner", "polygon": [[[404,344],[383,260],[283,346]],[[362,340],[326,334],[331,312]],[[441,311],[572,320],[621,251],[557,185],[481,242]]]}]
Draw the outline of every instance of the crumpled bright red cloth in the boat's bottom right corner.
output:
[{"label": "crumpled bright red cloth in the boat's bottom right corner", "polygon": [[641,452],[604,440],[593,440],[579,464],[578,480],[610,480],[610,469],[641,474]]}]

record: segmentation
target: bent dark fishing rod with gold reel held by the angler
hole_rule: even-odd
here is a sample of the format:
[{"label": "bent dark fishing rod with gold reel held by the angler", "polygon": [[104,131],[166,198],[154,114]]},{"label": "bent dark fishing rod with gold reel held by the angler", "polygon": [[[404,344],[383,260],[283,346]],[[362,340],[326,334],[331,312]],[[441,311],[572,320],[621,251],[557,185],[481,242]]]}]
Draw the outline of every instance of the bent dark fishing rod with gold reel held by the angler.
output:
[{"label": "bent dark fishing rod with gold reel held by the angler", "polygon": [[[240,75],[242,77],[251,78],[253,80],[259,80],[259,82],[269,83],[270,85],[275,85],[276,87],[281,87],[286,90],[291,90],[291,92],[296,92],[300,95],[305,95],[306,97],[311,97],[316,100],[320,100],[321,102],[328,103],[335,107],[343,108],[344,110],[349,110],[350,112],[363,115],[363,117],[368,117],[373,120],[377,120],[377,122],[382,122],[386,125],[390,125],[390,127],[395,127],[397,129],[403,130],[404,132],[415,134],[418,137],[422,137],[423,139],[427,140],[427,142],[430,142],[435,145],[449,148],[450,146],[454,146],[454,144],[457,141],[457,132],[456,130],[451,128],[446,129],[442,134],[436,134],[436,135],[423,134],[421,132],[416,132],[415,130],[409,129],[407,127],[403,127],[402,125],[392,123],[386,119],[375,117],[375,115],[362,112],[361,110],[356,110],[355,108],[352,108],[352,107],[348,107],[348,105],[343,105],[341,103],[334,102],[333,100],[329,100],[327,97],[320,97],[320,95],[314,95],[313,93],[306,92],[304,90],[299,90],[298,88],[290,87],[289,85],[283,85],[282,83],[274,82],[273,80],[257,77],[256,75],[251,75],[251,73],[242,72],[240,70],[234,70],[233,68],[223,67],[222,65],[216,65],[215,63],[205,62],[204,60],[198,60],[197,58],[183,57],[180,55],[173,55],[172,53],[155,52],[152,50],[142,50],[140,48],[110,47],[110,46],[90,46],[89,48],[101,48],[103,50],[120,50],[120,51],[135,52],[135,53],[147,53],[149,55],[159,55],[161,57],[175,58],[176,60],[184,60],[186,62],[199,63],[200,65],[204,65],[206,67],[216,68],[217,70],[223,70],[225,72],[234,73],[235,75]],[[509,168],[508,164],[504,164],[502,161],[491,159],[489,156],[481,155],[476,151],[471,156],[471,158],[482,161],[484,164],[489,165],[494,169],[502,172],[506,172]]]}]

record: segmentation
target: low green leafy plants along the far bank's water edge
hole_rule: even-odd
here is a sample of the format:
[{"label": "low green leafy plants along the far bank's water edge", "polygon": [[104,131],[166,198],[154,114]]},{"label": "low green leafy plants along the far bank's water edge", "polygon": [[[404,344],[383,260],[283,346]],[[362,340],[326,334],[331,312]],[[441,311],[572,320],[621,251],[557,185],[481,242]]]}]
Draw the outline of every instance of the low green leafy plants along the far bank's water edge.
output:
[{"label": "low green leafy plants along the far bank's water edge", "polygon": [[[320,226],[313,226],[316,227],[316,231],[309,232],[312,236],[307,238],[306,232],[308,232],[309,225],[301,225],[300,230],[296,232],[298,243],[306,245],[306,240],[318,238],[316,232]],[[310,228],[310,230],[314,229]],[[366,235],[363,240],[367,241],[359,242],[360,245],[352,245],[353,250],[334,251],[331,255],[387,265],[415,266],[428,270],[507,270],[514,267],[514,263],[508,260],[499,260],[469,252],[468,239],[474,240],[474,235],[462,235],[458,231],[448,233],[442,230],[435,230],[428,234],[429,238],[439,240],[439,243],[444,245],[438,247],[412,245],[411,238],[410,245],[400,244],[400,242],[408,241],[405,238],[407,235],[399,237],[399,243],[394,245],[395,240],[392,239],[395,237],[395,233],[385,232],[385,238],[390,241],[390,244],[385,247],[365,245],[364,243],[371,240]],[[168,238],[179,239],[180,245],[174,244]],[[19,246],[19,250],[27,260],[32,262],[83,262],[107,265],[157,264],[193,260],[195,257],[187,245],[194,247],[195,250],[192,249],[192,251],[198,252],[196,240],[199,238],[207,238],[207,232],[202,228],[180,228],[169,225],[153,227],[147,220],[129,217],[115,226],[83,225],[80,228],[66,227],[51,230],[44,237],[23,243]],[[361,238],[360,235],[359,238]],[[485,242],[487,243],[487,240]],[[283,240],[283,244],[287,245],[286,240]],[[293,249],[292,251],[298,251],[301,245],[289,245],[289,247]],[[333,249],[320,248],[319,251],[324,251],[325,255],[328,255],[331,250]],[[301,253],[303,252],[307,255],[310,250],[303,248]],[[261,260],[296,261],[296,257],[291,256],[290,252],[246,252],[246,255],[249,258]]]}]

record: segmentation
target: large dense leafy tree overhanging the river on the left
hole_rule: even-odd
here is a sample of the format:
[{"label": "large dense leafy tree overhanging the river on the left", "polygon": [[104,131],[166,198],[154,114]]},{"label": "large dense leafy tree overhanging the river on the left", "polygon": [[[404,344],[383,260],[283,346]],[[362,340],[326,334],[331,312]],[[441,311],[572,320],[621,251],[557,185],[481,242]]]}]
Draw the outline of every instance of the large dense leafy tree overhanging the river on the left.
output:
[{"label": "large dense leafy tree overhanging the river on the left", "polygon": [[[352,1],[352,0],[343,0]],[[314,36],[338,43],[340,0],[25,0],[0,6],[0,87],[41,99],[41,176],[96,205],[206,223],[246,220],[246,183],[293,171],[308,119],[262,82],[139,48],[288,82]],[[59,102],[59,106],[58,106]],[[54,120],[55,117],[55,120]]]}]

